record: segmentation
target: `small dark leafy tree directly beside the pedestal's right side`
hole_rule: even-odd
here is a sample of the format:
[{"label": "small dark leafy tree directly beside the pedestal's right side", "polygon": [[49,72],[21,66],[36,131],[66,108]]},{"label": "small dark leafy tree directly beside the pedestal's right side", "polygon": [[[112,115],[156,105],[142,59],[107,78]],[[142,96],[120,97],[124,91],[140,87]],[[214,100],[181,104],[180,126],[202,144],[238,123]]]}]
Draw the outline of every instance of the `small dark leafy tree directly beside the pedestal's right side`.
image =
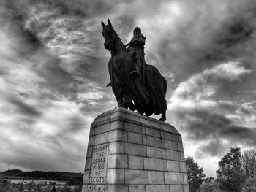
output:
[{"label": "small dark leafy tree directly beside the pedestal's right side", "polygon": [[192,157],[186,158],[186,166],[189,190],[190,192],[195,192],[203,183],[203,178],[206,177],[206,174],[203,173],[203,168],[200,168]]}]

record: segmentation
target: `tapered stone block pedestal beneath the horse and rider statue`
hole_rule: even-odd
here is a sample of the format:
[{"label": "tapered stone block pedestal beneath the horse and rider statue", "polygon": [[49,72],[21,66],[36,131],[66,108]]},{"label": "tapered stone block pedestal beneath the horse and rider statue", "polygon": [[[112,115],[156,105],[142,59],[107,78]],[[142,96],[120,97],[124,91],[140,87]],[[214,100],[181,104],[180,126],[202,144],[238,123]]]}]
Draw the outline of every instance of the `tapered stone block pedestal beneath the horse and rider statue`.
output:
[{"label": "tapered stone block pedestal beneath the horse and rider statue", "polygon": [[124,108],[91,123],[83,192],[189,192],[181,134]]}]

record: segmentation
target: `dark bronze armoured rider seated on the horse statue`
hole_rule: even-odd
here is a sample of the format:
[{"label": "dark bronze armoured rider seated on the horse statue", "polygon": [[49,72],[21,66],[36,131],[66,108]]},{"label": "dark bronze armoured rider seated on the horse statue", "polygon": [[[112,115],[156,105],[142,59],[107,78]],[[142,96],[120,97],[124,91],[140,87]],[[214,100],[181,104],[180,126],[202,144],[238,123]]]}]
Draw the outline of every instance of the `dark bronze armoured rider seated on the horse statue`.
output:
[{"label": "dark bronze armoured rider seated on the horse statue", "polygon": [[[133,30],[133,37],[131,42],[129,42],[129,47],[127,48],[127,52],[132,58],[135,58],[135,66],[134,70],[130,73],[134,77],[142,77],[144,78],[144,74],[142,72],[145,64],[144,59],[144,45],[145,45],[146,37],[141,34],[141,30],[139,27],[135,27]],[[144,81],[144,80],[143,80]]]}]

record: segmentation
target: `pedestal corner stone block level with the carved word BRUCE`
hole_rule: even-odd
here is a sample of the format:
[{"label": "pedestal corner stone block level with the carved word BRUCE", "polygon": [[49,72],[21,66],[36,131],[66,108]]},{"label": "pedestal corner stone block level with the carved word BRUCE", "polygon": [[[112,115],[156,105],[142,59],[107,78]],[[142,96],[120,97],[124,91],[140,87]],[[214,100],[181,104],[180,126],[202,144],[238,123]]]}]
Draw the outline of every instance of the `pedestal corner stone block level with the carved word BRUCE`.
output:
[{"label": "pedestal corner stone block level with the carved word BRUCE", "polygon": [[108,169],[110,168],[128,168],[127,155],[108,155]]}]

